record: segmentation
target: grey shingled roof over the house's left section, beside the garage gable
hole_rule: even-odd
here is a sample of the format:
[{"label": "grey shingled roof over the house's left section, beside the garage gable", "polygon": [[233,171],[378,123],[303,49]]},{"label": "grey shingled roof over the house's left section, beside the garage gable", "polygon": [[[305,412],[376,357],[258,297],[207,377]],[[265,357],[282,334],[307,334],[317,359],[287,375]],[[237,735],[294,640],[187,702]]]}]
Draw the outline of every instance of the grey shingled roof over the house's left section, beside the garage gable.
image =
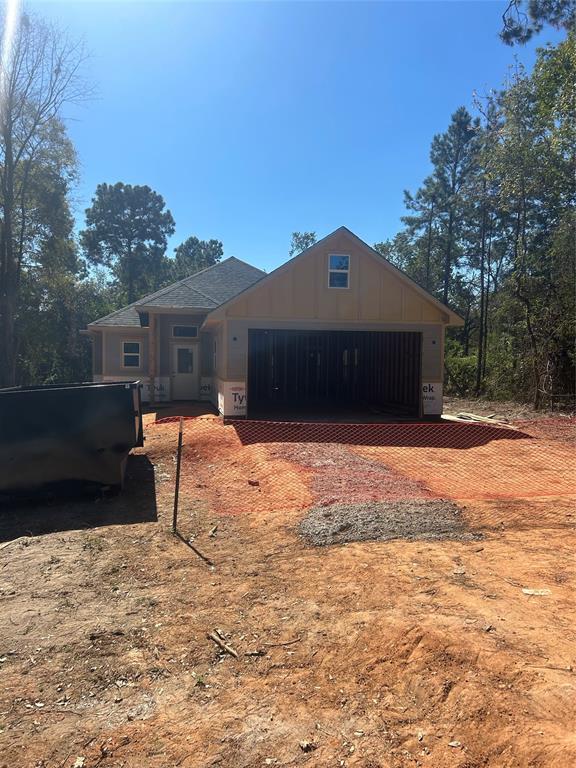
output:
[{"label": "grey shingled roof over the house's left section, beside the garage gable", "polygon": [[261,269],[230,256],[89,323],[89,327],[139,328],[139,311],[156,308],[210,312],[261,280],[265,274]]}]

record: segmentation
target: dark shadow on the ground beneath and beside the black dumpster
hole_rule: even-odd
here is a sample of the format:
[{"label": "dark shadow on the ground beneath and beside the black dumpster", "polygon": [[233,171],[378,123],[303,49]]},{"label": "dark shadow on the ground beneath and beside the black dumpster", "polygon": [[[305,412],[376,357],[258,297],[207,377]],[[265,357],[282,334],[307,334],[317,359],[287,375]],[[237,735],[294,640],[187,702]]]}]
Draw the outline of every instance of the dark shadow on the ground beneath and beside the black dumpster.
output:
[{"label": "dark shadow on the ground beneath and beside the black dumpster", "polygon": [[[65,490],[65,489],[63,489]],[[57,531],[133,525],[157,520],[154,467],[147,456],[129,456],[124,490],[36,496],[0,503],[0,541]]]}]

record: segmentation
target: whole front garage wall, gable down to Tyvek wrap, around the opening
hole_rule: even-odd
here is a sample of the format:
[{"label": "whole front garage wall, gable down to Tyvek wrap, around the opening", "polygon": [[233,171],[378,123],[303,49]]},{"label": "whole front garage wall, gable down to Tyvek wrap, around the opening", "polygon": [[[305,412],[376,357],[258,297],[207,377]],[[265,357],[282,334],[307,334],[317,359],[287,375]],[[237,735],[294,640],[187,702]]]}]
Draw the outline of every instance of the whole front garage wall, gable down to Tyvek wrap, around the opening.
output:
[{"label": "whole front garage wall, gable down to Tyvek wrap, around the opening", "polygon": [[[350,256],[348,288],[328,287],[330,254]],[[404,330],[422,333],[423,410],[439,415],[448,321],[448,311],[422,296],[355,238],[339,232],[224,310],[218,327],[226,350],[225,359],[218,356],[219,410],[227,416],[246,413],[249,328]]]}]

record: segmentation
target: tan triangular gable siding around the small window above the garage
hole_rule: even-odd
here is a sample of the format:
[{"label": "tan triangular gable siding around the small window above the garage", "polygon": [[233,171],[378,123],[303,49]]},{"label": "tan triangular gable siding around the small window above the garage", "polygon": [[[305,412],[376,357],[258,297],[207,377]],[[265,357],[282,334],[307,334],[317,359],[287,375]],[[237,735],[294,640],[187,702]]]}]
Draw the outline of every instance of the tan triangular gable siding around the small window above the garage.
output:
[{"label": "tan triangular gable siding around the small window above the garage", "polygon": [[[328,287],[328,257],[350,256],[350,287]],[[445,323],[446,314],[345,233],[336,234],[240,296],[230,318]]]}]

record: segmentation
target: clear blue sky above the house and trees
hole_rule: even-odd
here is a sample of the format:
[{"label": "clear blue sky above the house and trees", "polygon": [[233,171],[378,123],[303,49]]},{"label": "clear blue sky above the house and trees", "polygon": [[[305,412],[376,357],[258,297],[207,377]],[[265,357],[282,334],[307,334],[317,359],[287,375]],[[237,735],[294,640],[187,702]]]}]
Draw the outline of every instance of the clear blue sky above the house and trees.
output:
[{"label": "clear blue sky above the house and trees", "polygon": [[290,234],[391,237],[433,135],[535,44],[500,42],[506,2],[36,2],[90,53],[68,107],[77,218],[99,182],[148,184],[170,248],[216,237],[270,270]]}]

